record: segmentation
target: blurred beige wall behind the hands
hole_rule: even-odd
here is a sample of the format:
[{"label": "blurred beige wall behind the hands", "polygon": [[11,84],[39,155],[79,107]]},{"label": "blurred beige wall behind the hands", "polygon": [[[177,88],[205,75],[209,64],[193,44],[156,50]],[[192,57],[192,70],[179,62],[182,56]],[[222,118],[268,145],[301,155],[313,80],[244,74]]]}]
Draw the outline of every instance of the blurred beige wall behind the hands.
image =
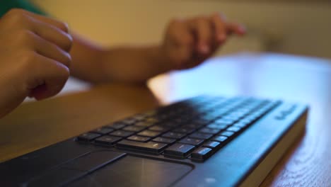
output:
[{"label": "blurred beige wall behind the hands", "polygon": [[274,50],[331,58],[330,4],[242,1],[33,0],[71,28],[102,45],[158,42],[170,18],[221,11],[250,33],[226,52]]}]

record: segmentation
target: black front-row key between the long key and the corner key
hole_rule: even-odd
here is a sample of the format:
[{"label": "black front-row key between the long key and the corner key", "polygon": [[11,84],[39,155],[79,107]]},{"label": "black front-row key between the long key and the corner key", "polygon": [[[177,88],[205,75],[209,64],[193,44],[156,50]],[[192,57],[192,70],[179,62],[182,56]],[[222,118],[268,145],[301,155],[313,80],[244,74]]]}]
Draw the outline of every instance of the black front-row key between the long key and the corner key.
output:
[{"label": "black front-row key between the long key and the corner key", "polygon": [[165,156],[170,157],[187,157],[190,152],[194,149],[193,145],[185,145],[185,144],[174,144],[164,150]]}]

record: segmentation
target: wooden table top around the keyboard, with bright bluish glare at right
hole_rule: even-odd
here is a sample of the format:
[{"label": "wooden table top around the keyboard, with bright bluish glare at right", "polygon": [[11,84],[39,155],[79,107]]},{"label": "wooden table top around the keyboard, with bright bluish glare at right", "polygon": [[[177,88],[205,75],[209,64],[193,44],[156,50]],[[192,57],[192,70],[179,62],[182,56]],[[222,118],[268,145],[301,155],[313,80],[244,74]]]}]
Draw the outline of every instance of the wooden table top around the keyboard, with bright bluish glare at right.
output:
[{"label": "wooden table top around the keyboard, with bright bluish glare at right", "polygon": [[[0,161],[79,135],[127,115],[197,94],[281,98],[310,105],[306,134],[262,186],[331,186],[331,62],[286,55],[214,58],[144,86],[110,84],[25,103],[0,120]],[[158,98],[158,101],[157,99]]]}]

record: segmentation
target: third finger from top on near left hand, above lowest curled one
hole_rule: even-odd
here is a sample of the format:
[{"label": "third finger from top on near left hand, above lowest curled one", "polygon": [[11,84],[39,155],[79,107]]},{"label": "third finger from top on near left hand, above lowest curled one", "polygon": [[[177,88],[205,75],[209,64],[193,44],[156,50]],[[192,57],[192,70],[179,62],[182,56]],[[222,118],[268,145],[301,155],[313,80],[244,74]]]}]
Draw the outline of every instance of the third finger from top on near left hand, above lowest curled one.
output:
[{"label": "third finger from top on near left hand, above lowest curled one", "polygon": [[69,52],[62,50],[52,42],[40,38],[40,36],[35,35],[35,33],[31,32],[31,37],[33,38],[32,45],[38,54],[56,60],[57,62],[61,62],[66,67],[70,67],[71,56],[69,55]]}]

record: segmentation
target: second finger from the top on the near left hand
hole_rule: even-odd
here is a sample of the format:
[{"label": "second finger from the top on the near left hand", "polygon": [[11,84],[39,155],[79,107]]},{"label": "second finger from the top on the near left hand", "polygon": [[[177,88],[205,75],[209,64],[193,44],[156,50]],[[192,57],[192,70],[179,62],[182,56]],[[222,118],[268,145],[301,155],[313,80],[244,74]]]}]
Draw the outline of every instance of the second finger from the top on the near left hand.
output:
[{"label": "second finger from the top on the near left hand", "polygon": [[39,35],[41,38],[54,43],[62,48],[66,52],[69,52],[72,45],[71,35],[65,33],[63,30],[54,27],[48,23],[42,21],[33,21],[33,32]]}]

